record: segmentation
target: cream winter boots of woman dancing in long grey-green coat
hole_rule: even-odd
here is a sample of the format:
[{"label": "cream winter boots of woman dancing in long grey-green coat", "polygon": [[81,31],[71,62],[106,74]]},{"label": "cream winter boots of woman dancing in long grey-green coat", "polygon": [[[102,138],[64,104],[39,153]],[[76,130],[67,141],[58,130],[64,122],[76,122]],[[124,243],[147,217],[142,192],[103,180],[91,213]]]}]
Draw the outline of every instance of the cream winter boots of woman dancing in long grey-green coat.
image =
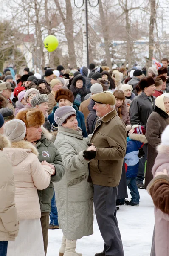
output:
[{"label": "cream winter boots of woman dancing in long grey-green coat", "polygon": [[76,253],[76,240],[68,240],[63,235],[62,245],[59,250],[59,256],[82,256],[82,253]]}]

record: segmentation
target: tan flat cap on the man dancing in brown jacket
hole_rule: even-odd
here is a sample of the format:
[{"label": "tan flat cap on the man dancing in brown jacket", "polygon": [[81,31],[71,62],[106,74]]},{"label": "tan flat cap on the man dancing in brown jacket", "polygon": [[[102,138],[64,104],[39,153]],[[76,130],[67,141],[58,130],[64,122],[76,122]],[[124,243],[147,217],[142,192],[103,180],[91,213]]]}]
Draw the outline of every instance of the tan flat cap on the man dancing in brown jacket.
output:
[{"label": "tan flat cap on the man dancing in brown jacket", "polygon": [[100,104],[109,104],[111,106],[115,105],[115,96],[110,92],[97,93],[91,96],[94,102]]}]

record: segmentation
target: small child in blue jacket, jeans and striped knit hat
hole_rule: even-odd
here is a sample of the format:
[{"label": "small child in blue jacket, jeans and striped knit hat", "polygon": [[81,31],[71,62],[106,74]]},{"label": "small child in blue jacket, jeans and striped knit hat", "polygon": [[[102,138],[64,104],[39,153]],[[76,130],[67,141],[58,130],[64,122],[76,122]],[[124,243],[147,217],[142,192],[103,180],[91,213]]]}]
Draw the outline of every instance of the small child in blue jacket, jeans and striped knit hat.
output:
[{"label": "small child in blue jacket, jeans and striped knit hat", "polygon": [[141,125],[133,125],[132,129],[128,132],[127,150],[124,160],[127,186],[130,189],[132,198],[130,202],[125,200],[125,204],[130,206],[139,206],[140,203],[140,195],[136,184],[136,177],[139,166],[139,149],[142,148],[144,143],[147,143],[145,133],[146,130]]}]

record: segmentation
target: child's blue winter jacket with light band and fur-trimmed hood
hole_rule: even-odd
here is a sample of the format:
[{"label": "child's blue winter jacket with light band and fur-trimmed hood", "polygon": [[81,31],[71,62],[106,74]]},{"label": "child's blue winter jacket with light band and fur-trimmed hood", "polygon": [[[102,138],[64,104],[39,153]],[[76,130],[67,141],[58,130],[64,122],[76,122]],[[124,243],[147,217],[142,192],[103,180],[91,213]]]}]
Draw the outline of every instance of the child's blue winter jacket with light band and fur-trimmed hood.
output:
[{"label": "child's blue winter jacket with light band and fur-trimmed hood", "polygon": [[141,148],[144,143],[147,143],[145,135],[133,133],[130,137],[127,137],[127,149],[124,157],[127,178],[137,177],[139,148]]}]

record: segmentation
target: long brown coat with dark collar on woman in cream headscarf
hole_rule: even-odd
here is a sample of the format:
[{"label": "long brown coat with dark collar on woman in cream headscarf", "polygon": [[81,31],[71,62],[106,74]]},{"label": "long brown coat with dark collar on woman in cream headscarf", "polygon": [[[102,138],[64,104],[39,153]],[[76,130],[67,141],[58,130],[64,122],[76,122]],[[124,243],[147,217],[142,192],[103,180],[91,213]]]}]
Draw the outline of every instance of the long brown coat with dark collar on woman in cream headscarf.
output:
[{"label": "long brown coat with dark collar on woman in cream headscarf", "polygon": [[169,125],[169,116],[163,110],[155,107],[154,111],[148,118],[146,124],[146,139],[148,141],[147,148],[147,165],[146,165],[146,178],[144,188],[146,189],[149,182],[152,180],[152,167],[157,157],[157,146],[161,143],[161,134]]}]

